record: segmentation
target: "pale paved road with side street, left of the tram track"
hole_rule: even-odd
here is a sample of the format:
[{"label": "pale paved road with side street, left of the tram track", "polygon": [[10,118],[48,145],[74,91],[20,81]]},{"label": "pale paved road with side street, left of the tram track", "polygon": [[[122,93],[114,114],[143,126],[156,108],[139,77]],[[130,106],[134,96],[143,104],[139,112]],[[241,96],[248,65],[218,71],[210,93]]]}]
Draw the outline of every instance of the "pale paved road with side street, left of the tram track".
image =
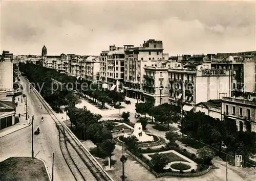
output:
[{"label": "pale paved road with side street, left of the tram track", "polygon": [[[34,155],[39,151],[36,158],[45,160],[51,174],[52,153],[54,152],[54,180],[75,180],[63,159],[59,146],[58,131],[53,119],[44,107],[39,108],[41,104],[34,92],[28,93],[28,84],[25,79],[20,77],[20,81],[24,87],[23,92],[28,94],[29,115],[35,117],[34,131],[37,127],[40,128],[40,134],[34,135]],[[44,122],[41,121],[42,116],[44,116]],[[0,139],[0,161],[14,156],[31,156],[31,129],[31,126],[29,126]]]}]

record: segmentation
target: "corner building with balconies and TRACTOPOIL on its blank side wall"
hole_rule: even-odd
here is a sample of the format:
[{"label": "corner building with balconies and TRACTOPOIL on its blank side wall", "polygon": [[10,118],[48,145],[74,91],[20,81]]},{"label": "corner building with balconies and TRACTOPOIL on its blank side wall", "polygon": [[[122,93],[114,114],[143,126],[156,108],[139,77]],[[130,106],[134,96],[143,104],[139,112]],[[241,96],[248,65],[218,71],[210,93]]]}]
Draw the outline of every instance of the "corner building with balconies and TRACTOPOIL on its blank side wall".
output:
[{"label": "corner building with balconies and TRACTOPOIL on its blank side wall", "polygon": [[169,102],[191,111],[196,104],[231,95],[230,70],[209,69],[210,64],[163,63],[161,67],[145,67],[145,101],[155,105]]}]

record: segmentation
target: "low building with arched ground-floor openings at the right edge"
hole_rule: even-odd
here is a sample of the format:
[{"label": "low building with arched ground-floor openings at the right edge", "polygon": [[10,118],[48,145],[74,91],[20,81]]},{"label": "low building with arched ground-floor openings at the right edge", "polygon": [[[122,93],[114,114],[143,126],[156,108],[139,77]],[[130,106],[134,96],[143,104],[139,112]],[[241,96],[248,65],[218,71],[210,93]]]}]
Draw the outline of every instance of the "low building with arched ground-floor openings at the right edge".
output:
[{"label": "low building with arched ground-floor openings at the right edge", "polygon": [[239,131],[256,132],[255,97],[223,97],[222,115],[222,120],[233,122]]}]

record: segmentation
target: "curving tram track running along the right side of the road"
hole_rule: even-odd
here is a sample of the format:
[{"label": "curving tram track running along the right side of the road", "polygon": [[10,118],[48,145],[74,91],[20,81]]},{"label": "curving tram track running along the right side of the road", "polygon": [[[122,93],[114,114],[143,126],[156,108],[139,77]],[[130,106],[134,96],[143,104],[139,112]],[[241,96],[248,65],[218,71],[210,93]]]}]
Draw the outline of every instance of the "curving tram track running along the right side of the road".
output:
[{"label": "curving tram track running along the right side of the road", "polygon": [[[25,78],[27,83],[31,86],[30,82]],[[106,173],[99,163],[95,160],[92,154],[82,146],[81,142],[75,137],[70,129],[62,121],[60,121],[52,108],[47,104],[44,98],[39,95],[35,88],[33,92],[40,100],[56,123],[59,131],[59,143],[62,155],[75,177],[75,180],[86,181],[113,181],[113,179]]]}]

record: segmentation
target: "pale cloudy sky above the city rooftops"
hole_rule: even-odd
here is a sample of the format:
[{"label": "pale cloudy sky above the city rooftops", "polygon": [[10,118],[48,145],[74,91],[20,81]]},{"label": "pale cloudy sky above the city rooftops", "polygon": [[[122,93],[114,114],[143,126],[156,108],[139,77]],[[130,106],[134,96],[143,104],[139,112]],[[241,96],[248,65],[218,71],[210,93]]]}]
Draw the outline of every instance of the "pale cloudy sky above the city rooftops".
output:
[{"label": "pale cloudy sky above the city rooftops", "polygon": [[163,41],[169,55],[256,50],[256,3],[6,2],[0,50],[14,55],[100,55],[109,45]]}]

